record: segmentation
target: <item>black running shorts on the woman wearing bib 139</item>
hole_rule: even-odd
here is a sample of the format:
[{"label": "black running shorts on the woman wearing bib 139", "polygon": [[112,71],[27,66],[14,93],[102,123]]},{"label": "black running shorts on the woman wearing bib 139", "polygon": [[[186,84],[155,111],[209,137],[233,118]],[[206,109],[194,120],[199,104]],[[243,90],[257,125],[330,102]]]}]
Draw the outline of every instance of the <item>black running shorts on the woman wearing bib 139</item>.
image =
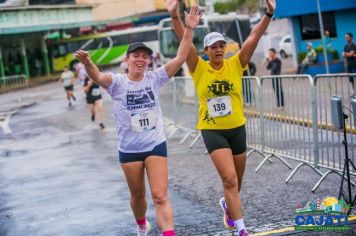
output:
[{"label": "black running shorts on the woman wearing bib 139", "polygon": [[209,154],[222,148],[230,148],[233,155],[247,150],[245,125],[233,129],[204,129],[201,134]]}]

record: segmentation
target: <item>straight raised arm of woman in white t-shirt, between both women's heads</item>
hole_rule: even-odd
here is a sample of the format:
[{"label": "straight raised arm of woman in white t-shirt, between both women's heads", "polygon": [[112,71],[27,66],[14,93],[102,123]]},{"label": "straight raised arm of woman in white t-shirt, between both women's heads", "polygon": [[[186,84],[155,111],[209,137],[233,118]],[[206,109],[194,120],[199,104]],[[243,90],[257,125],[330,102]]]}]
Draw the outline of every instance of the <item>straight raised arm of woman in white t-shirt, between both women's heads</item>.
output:
[{"label": "straight raised arm of woman in white t-shirt, between both women's heads", "polygon": [[194,29],[198,25],[202,14],[203,13],[199,12],[198,6],[193,6],[190,9],[189,14],[185,13],[185,24],[187,28],[185,29],[182,40],[179,44],[177,56],[165,65],[169,77],[175,75],[179,68],[182,67],[183,63],[187,60],[192,46]]}]

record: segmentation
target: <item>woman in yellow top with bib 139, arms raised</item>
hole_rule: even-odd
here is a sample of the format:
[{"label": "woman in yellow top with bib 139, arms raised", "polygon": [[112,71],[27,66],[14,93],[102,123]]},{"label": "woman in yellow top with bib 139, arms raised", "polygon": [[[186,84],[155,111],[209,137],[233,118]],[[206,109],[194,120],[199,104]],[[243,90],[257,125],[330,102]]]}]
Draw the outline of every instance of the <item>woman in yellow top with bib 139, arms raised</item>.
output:
[{"label": "woman in yellow top with bib 139, arms raised", "polygon": [[[197,128],[223,182],[220,206],[224,224],[228,229],[237,228],[239,236],[248,235],[239,196],[246,165],[242,74],[273,17],[275,0],[266,3],[265,16],[234,56],[224,59],[226,40],[222,34],[212,32],[204,38],[204,52],[209,60],[200,58],[192,45],[186,61],[200,103]],[[184,26],[179,18],[178,0],[167,0],[167,10],[174,32],[181,40]]]}]

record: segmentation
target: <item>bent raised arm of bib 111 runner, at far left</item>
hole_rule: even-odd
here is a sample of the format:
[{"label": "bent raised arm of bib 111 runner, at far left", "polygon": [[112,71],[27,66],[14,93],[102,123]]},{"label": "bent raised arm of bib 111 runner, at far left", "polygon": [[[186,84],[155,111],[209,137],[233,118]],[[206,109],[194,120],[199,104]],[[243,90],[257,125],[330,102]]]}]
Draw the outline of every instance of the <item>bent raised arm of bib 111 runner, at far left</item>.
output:
[{"label": "bent raised arm of bib 111 runner, at far left", "polygon": [[99,68],[90,59],[89,53],[83,50],[75,52],[75,56],[85,66],[88,76],[103,88],[107,88],[112,83],[112,78],[109,74],[102,73]]}]

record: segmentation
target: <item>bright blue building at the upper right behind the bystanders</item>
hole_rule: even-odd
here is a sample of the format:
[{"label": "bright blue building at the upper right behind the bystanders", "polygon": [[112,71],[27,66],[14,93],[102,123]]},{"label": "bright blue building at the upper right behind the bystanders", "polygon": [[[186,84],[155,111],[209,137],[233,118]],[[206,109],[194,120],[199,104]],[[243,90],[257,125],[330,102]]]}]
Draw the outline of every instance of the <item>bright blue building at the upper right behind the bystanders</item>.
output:
[{"label": "bright blue building at the upper right behind the bystanders", "polygon": [[288,18],[292,41],[294,43],[294,60],[306,51],[307,43],[314,48],[323,45],[321,27],[318,17],[317,1],[320,3],[323,28],[330,32],[330,44],[339,58],[345,45],[345,34],[356,35],[356,1],[355,0],[276,0],[276,18]]}]

